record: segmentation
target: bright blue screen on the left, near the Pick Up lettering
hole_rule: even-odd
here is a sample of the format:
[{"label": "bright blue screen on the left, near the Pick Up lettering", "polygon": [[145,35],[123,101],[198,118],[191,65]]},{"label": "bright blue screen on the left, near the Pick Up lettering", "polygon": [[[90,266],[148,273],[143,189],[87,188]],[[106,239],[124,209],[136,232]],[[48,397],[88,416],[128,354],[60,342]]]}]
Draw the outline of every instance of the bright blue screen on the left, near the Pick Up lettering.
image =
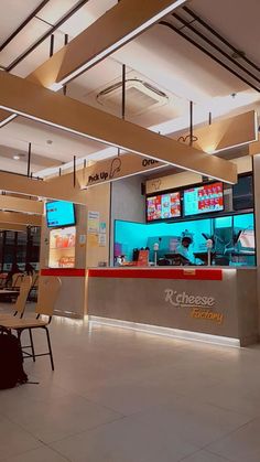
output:
[{"label": "bright blue screen on the left, near the Pick Up lettering", "polygon": [[72,202],[53,201],[46,203],[48,228],[75,225],[75,209]]}]

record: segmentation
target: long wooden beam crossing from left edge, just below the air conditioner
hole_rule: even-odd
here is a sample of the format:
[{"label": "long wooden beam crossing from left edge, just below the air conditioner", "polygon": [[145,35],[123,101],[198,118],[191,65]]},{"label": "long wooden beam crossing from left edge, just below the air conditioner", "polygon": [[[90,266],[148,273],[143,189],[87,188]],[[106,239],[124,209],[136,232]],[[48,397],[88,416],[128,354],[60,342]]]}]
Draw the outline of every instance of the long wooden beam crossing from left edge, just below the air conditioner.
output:
[{"label": "long wooden beam crossing from left edge, just below the air conditioner", "polygon": [[4,72],[0,73],[0,108],[227,183],[237,181],[236,165],[229,161]]}]

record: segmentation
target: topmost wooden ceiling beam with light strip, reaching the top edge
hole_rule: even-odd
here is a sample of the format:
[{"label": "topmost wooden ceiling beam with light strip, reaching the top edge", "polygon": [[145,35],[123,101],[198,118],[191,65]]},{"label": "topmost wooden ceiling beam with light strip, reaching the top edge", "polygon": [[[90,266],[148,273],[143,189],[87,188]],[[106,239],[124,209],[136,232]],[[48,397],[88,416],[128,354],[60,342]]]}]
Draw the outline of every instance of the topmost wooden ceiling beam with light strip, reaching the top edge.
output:
[{"label": "topmost wooden ceiling beam with light strip, reaching the top edge", "polygon": [[[53,90],[112,54],[187,0],[121,0],[26,79]],[[10,116],[11,119],[10,119]],[[0,127],[15,115],[0,111]]]}]

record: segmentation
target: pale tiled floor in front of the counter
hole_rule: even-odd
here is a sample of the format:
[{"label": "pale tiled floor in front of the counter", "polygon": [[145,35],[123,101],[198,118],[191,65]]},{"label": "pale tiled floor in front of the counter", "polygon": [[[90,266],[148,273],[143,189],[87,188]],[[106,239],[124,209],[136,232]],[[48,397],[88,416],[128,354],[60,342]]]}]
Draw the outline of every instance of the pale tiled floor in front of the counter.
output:
[{"label": "pale tiled floor in front of the counter", "polygon": [[55,372],[28,359],[40,384],[0,391],[0,461],[260,461],[260,346],[65,319],[51,334]]}]

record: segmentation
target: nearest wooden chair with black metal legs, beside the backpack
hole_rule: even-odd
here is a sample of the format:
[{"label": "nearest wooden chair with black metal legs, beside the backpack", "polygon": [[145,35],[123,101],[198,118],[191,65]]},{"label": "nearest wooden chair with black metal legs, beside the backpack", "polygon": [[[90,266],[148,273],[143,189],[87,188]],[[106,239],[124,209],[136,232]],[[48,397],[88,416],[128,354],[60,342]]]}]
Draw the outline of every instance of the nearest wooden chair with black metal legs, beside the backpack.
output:
[{"label": "nearest wooden chair with black metal legs, beside the backpack", "polygon": [[[42,281],[40,286],[40,291],[39,291],[39,300],[37,300],[37,304],[35,309],[36,319],[23,318],[23,319],[15,320],[12,318],[9,320],[1,321],[1,324],[4,327],[17,331],[20,343],[21,343],[22,332],[28,330],[29,336],[30,336],[30,345],[23,346],[21,344],[22,350],[23,350],[23,357],[24,358],[32,357],[33,361],[35,362],[36,356],[48,355],[53,370],[54,370],[54,361],[53,361],[50,332],[48,332],[47,326],[52,321],[55,302],[57,300],[61,287],[62,287],[62,281],[59,278],[56,278],[56,277],[50,277]],[[46,315],[47,320],[42,319],[41,318],[42,315]],[[33,335],[32,335],[32,331],[34,329],[43,329],[46,332],[47,346],[48,346],[47,353],[39,353],[39,354],[35,353],[34,344],[33,344]],[[24,351],[24,348],[30,348],[32,353]]]}]

